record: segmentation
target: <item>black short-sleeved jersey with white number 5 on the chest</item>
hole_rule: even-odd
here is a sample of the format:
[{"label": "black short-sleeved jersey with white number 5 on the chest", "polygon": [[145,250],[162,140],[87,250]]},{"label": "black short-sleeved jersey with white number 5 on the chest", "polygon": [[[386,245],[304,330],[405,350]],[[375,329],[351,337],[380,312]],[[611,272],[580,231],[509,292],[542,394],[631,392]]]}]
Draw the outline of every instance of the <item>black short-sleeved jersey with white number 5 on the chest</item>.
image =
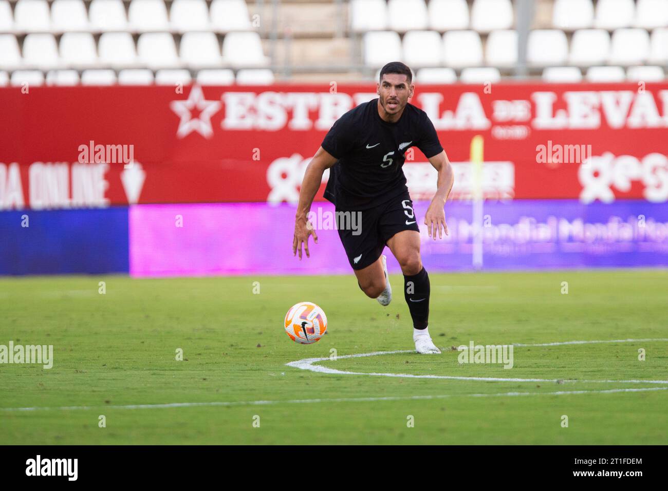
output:
[{"label": "black short-sleeved jersey with white number 5 on the chest", "polygon": [[351,109],[322,143],[338,159],[330,169],[325,198],[337,208],[352,210],[373,208],[407,192],[401,166],[411,146],[427,158],[443,151],[423,110],[406,104],[399,121],[388,123],[378,114],[377,99]]}]

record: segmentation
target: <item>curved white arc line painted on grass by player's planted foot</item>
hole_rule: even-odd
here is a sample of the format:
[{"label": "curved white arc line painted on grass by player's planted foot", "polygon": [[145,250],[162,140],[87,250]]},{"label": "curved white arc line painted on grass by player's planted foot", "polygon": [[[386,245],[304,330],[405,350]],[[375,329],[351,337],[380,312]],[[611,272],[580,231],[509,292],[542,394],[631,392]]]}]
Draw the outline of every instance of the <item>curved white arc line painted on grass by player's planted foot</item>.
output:
[{"label": "curved white arc line painted on grass by player's planted foot", "polygon": [[[562,345],[579,345],[579,344],[593,344],[593,343],[636,343],[636,342],[645,342],[645,341],[668,341],[668,338],[647,338],[647,339],[609,339],[609,340],[595,340],[595,341],[561,341],[557,343],[536,343],[536,344],[523,344],[523,343],[514,343],[514,346],[518,347],[531,347],[531,346],[562,346]],[[361,358],[367,356],[378,356],[378,355],[395,355],[397,353],[415,353],[413,349],[400,349],[397,351],[373,351],[372,353],[357,353],[354,355],[342,355],[337,356],[337,359],[346,359],[346,358]],[[413,378],[413,379],[449,379],[449,380],[476,380],[476,381],[498,381],[498,382],[580,382],[580,383],[665,383],[668,384],[668,380],[578,380],[578,379],[521,379],[521,378],[500,378],[500,377],[461,377],[455,375],[413,375],[411,373],[377,373],[377,372],[363,372],[363,371],[347,371],[347,370],[337,370],[335,368],[323,367],[322,365],[314,365],[313,363],[318,363],[319,361],[329,361],[329,357],[322,358],[304,358],[297,361],[291,361],[290,363],[285,363],[289,367],[299,368],[302,370],[315,371],[318,373],[330,373],[335,375],[372,375],[379,377],[399,377],[399,378]]]}]

